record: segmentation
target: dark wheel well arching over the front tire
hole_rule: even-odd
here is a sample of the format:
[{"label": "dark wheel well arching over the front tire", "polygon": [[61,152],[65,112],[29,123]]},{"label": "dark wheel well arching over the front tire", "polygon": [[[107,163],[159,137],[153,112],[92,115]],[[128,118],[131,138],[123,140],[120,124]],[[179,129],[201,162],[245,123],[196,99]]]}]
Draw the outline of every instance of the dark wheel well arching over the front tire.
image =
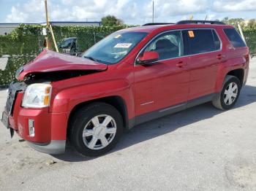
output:
[{"label": "dark wheel well arching over the front tire", "polygon": [[[91,101],[86,101],[86,102],[78,104],[77,106],[75,106],[72,109],[72,111],[69,114],[68,127],[69,127],[69,123],[72,121],[72,117],[74,116],[75,112],[77,112],[83,106],[92,104],[94,102],[103,102],[103,103],[110,104],[111,106],[115,107],[118,110],[118,112],[120,112],[121,116],[123,117],[124,128],[128,128],[127,106],[125,104],[124,99],[121,98],[120,96],[109,96],[109,97],[105,97],[105,98],[98,98],[98,99],[94,99]],[[67,133],[68,133],[68,130],[67,130]]]}]

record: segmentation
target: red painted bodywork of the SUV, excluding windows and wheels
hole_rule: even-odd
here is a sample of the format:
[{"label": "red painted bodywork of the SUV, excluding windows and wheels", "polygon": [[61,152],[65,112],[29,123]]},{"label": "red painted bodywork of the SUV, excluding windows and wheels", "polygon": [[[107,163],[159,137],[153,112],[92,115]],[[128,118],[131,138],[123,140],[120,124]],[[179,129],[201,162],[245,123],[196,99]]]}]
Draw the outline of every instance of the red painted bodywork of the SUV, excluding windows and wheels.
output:
[{"label": "red painted bodywork of the SUV, excluding windows and wheels", "polygon": [[[108,96],[118,96],[127,106],[132,119],[167,106],[187,102],[209,93],[219,93],[226,74],[233,69],[244,69],[244,82],[249,69],[248,48],[234,49],[222,28],[215,25],[169,25],[127,28],[123,31],[143,31],[148,35],[119,63],[102,63],[75,58],[52,51],[42,52],[24,67],[19,79],[31,72],[61,70],[100,70],[101,72],[52,82],[50,107],[24,109],[23,93],[18,93],[10,125],[26,140],[49,142],[65,140],[69,114],[78,104]],[[189,55],[149,65],[134,65],[140,49],[162,31],[185,28],[215,28],[222,39],[222,50],[200,55]],[[144,55],[145,59],[158,55]],[[143,58],[144,59],[144,58]],[[35,120],[35,137],[29,137],[28,119]]]}]

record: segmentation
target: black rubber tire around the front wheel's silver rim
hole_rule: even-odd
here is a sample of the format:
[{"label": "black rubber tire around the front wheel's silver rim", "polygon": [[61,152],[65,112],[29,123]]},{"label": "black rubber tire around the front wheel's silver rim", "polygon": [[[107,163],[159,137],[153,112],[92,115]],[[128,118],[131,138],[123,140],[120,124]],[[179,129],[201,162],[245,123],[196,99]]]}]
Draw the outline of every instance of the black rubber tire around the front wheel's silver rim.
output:
[{"label": "black rubber tire around the front wheel's silver rim", "polygon": [[[92,118],[102,114],[113,117],[113,120],[116,122],[116,135],[113,137],[112,141],[110,141],[108,146],[102,149],[90,149],[84,142],[83,130],[86,127],[86,124],[88,124]],[[99,155],[104,155],[106,152],[110,151],[110,149],[113,149],[113,147],[116,146],[116,143],[118,142],[118,139],[120,139],[123,130],[123,119],[118,110],[110,104],[97,102],[84,106],[75,112],[69,124],[68,137],[72,146],[74,146],[75,149],[82,155],[87,157],[97,157]]]}]

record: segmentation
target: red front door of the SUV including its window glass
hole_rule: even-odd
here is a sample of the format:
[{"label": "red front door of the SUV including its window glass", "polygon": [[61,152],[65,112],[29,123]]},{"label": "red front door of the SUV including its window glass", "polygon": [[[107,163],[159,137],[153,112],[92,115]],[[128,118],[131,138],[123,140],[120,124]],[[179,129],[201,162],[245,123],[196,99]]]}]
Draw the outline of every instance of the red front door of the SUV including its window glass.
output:
[{"label": "red front door of the SUV including its window glass", "polygon": [[[189,57],[184,56],[181,31],[155,37],[143,49],[159,54],[158,61],[135,65],[135,107],[137,123],[157,118],[187,106]],[[143,119],[141,118],[143,116]]]}]

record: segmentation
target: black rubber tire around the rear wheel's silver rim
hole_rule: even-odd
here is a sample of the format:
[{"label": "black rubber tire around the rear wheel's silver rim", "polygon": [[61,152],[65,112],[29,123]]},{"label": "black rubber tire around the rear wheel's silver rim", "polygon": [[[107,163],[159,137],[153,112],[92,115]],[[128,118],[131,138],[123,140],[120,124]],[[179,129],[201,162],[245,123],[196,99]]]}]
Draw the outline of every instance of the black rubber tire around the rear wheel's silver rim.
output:
[{"label": "black rubber tire around the rear wheel's silver rim", "polygon": [[[238,86],[238,92],[236,95],[236,98],[233,100],[232,104],[226,104],[225,103],[225,90],[230,85],[230,83],[235,83]],[[225,81],[223,83],[222,87],[222,92],[217,95],[216,98],[212,101],[212,104],[217,108],[217,109],[222,109],[222,110],[228,110],[231,109],[235,104],[236,101],[238,100],[239,94],[241,90],[241,82],[237,77],[227,75],[225,78]]]}]

